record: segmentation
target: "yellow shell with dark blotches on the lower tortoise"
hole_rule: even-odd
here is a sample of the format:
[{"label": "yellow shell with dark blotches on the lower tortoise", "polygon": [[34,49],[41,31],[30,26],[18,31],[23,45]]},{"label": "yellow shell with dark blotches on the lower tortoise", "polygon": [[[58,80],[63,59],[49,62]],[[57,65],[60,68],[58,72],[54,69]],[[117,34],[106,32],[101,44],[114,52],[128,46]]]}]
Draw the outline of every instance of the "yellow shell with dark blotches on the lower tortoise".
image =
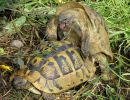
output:
[{"label": "yellow shell with dark blotches on the lower tortoise", "polygon": [[[15,75],[23,77],[45,93],[60,93],[90,78],[87,70],[89,65],[84,65],[79,48],[60,41],[60,45],[53,49],[47,55],[32,57],[28,67],[19,70]],[[43,51],[45,48],[41,46],[40,50]]]}]

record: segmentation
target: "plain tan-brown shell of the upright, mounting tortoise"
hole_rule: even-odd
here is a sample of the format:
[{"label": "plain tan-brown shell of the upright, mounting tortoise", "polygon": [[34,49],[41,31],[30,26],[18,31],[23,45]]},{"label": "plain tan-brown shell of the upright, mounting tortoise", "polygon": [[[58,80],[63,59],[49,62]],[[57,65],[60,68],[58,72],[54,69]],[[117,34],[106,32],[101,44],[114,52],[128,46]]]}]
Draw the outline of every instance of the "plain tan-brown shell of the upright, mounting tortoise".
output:
[{"label": "plain tan-brown shell of the upright, mounting tortoise", "polygon": [[[73,13],[74,10],[76,9],[78,9],[79,11],[77,11],[77,13]],[[109,36],[103,18],[96,11],[92,10],[90,7],[78,2],[68,2],[57,8],[55,16],[48,23],[46,33],[48,34],[49,40],[55,40],[57,39],[58,35],[63,34],[63,33],[57,34],[57,31],[59,31],[58,19],[59,16],[61,15],[75,16],[77,18],[77,19],[75,18],[74,20],[75,23],[77,23],[80,27],[81,32],[79,34],[81,34],[82,37],[81,41],[79,41],[80,39],[77,38],[79,36],[76,37],[76,34],[73,31],[69,33],[68,37],[70,37],[70,39],[68,40],[71,41],[72,39],[72,41],[74,40],[78,41],[81,45],[81,43],[84,40],[83,38],[88,38],[88,41],[85,44],[81,45],[81,50],[83,49],[82,52],[84,53],[84,55],[88,55],[86,51],[88,51],[89,47],[89,54],[91,56],[98,53],[103,53],[107,57],[109,57],[110,60],[113,59],[109,43]],[[85,23],[86,26],[84,26]],[[74,28],[77,29],[76,27]],[[68,32],[69,31],[70,30],[68,30]]]}]

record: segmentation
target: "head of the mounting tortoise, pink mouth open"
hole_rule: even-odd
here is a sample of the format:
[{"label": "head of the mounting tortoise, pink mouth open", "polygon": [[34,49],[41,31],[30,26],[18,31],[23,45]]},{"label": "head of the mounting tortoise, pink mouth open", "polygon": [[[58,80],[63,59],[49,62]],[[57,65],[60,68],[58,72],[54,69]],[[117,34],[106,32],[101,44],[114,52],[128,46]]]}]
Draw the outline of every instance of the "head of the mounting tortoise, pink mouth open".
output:
[{"label": "head of the mounting tortoise, pink mouth open", "polygon": [[[82,18],[81,18],[81,15]],[[61,12],[58,16],[58,29],[59,32],[67,32],[70,31],[75,32],[79,37],[81,37],[82,33],[82,25],[83,21],[85,22],[85,13],[84,10],[80,8],[68,9]],[[58,35],[61,34],[58,32]]]}]

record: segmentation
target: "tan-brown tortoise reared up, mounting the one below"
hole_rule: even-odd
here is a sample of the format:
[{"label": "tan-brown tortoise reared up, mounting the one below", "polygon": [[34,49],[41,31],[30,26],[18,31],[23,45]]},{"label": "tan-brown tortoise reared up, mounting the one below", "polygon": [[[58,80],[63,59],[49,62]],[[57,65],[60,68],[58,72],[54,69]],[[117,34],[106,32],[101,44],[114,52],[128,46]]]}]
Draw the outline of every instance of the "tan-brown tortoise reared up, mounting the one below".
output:
[{"label": "tan-brown tortoise reared up, mounting the one below", "polygon": [[65,3],[57,8],[46,33],[48,40],[67,40],[80,47],[87,59],[99,64],[101,78],[111,78],[108,61],[113,60],[113,54],[108,31],[103,18],[95,10],[79,2]]}]

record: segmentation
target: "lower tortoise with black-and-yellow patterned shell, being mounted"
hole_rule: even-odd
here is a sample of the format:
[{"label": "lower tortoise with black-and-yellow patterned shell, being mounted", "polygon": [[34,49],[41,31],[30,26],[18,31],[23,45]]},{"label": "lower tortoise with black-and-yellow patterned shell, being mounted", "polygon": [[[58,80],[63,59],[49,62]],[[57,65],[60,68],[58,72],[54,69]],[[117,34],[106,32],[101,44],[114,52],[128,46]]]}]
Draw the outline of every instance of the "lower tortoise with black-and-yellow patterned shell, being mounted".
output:
[{"label": "lower tortoise with black-and-yellow patterned shell, being mounted", "polygon": [[70,42],[49,41],[38,50],[39,56],[31,57],[26,68],[12,75],[16,89],[28,89],[42,94],[46,100],[54,100],[94,76],[93,63],[90,60],[84,62],[80,49]]}]

